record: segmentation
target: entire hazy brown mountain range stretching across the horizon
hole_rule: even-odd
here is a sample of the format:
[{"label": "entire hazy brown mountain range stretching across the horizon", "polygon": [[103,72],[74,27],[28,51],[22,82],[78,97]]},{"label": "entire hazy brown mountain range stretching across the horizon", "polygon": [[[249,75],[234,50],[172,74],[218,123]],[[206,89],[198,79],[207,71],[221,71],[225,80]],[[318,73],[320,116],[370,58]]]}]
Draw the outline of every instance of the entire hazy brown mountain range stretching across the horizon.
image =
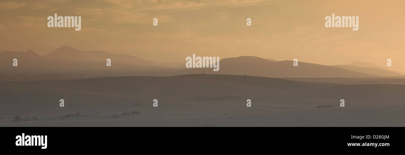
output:
[{"label": "entire hazy brown mountain range stretching across the horizon", "polygon": [[[13,58],[18,59],[18,67],[12,66]],[[106,66],[110,58],[112,66]],[[128,54],[109,54],[102,51],[81,51],[66,45],[43,57],[32,50],[26,52],[0,52],[0,69],[4,72],[17,73],[53,73],[53,72],[97,72],[99,74],[116,73],[116,76],[149,75],[171,76],[196,73],[252,75],[278,78],[324,78],[324,77],[390,77],[402,74],[384,67],[358,67],[354,65],[373,66],[371,63],[354,62],[354,65],[318,65],[308,62],[277,61],[256,56],[239,56],[220,60],[220,70],[213,68],[185,68],[180,62],[152,62]],[[179,65],[181,67],[179,67]],[[165,66],[165,67],[161,67]],[[170,66],[170,67],[169,67]],[[173,68],[171,68],[173,67]],[[375,67],[378,67],[375,65]]]}]

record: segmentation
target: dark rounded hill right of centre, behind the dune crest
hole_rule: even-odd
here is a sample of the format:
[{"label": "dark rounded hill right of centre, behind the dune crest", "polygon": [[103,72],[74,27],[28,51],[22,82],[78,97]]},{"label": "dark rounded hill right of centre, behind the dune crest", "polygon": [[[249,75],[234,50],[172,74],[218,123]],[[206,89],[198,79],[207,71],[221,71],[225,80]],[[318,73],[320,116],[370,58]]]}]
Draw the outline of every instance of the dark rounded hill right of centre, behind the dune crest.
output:
[{"label": "dark rounded hill right of centre, behind the dune crest", "polygon": [[220,70],[213,71],[213,68],[193,68],[181,71],[174,71],[176,74],[231,74],[231,75],[252,75],[262,77],[380,77],[366,73],[359,73],[347,69],[318,65],[307,62],[298,62],[293,66],[293,61],[283,60],[278,62],[269,61],[256,56],[239,56],[236,58],[224,58],[220,60]]}]

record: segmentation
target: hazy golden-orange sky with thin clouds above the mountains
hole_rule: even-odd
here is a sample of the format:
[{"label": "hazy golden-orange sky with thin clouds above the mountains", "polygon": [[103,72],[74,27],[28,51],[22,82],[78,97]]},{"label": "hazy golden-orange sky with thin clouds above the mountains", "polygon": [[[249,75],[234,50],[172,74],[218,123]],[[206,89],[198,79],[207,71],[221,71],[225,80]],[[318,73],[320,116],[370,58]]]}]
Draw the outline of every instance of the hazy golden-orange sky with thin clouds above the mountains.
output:
[{"label": "hazy golden-orange sky with thin clouds above the mountains", "polygon": [[[392,69],[405,71],[404,6],[404,0],[1,0],[0,50],[45,55],[68,45],[158,62],[196,54],[386,66],[391,58]],[[81,16],[81,30],[48,28],[54,13]],[[359,16],[358,31],[326,28],[332,13]]]}]

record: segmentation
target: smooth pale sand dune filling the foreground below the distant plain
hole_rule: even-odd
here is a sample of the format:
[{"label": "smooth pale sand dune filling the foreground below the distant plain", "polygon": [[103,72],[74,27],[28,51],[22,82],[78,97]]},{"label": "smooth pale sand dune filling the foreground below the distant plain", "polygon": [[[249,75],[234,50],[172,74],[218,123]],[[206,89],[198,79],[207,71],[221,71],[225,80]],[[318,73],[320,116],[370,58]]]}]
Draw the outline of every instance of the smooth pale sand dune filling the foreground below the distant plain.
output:
[{"label": "smooth pale sand dune filling the foreground below the distant plain", "polygon": [[[396,84],[314,84],[208,74],[0,84],[0,126],[404,126],[405,122],[405,85]],[[60,99],[65,100],[63,108]],[[153,99],[158,99],[157,108]],[[247,99],[252,107],[246,107]],[[339,107],[340,99],[345,99],[344,108]],[[28,121],[15,121],[17,115]]]}]

